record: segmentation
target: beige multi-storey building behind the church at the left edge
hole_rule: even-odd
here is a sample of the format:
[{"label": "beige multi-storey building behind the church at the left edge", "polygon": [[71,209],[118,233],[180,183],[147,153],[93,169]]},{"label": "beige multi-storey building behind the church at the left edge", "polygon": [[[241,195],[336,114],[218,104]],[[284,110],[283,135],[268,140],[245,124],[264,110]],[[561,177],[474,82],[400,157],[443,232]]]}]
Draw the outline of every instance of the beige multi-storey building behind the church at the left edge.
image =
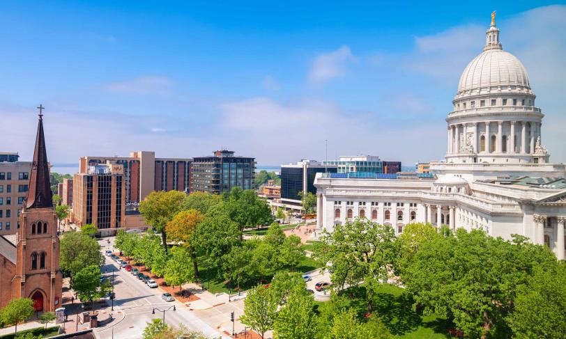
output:
[{"label": "beige multi-storey building behind the church at the left edge", "polygon": [[31,161],[17,153],[0,152],[0,235],[15,234],[29,188]]}]

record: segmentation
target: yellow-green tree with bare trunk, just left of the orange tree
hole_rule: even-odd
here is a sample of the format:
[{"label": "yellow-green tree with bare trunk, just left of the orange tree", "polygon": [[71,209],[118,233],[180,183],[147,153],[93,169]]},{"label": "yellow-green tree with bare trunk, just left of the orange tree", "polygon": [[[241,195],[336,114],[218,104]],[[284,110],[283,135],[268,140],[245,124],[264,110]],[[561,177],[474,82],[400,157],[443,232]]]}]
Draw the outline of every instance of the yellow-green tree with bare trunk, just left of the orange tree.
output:
[{"label": "yellow-green tree with bare trunk, just left of the orange tree", "polygon": [[139,213],[146,223],[153,225],[161,233],[163,249],[167,253],[167,234],[165,226],[181,209],[185,194],[180,191],[153,191],[139,203]]}]

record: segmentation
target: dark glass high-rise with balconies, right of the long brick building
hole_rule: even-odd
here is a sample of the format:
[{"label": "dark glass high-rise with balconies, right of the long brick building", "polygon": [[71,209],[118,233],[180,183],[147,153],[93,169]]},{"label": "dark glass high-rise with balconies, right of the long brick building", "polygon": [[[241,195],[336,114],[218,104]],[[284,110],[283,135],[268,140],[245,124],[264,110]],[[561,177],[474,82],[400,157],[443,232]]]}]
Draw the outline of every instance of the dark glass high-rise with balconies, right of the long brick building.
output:
[{"label": "dark glass high-rise with balconies, right of the long brick building", "polygon": [[254,188],[255,158],[236,157],[233,151],[217,150],[208,157],[192,159],[190,191],[220,194],[234,187]]}]

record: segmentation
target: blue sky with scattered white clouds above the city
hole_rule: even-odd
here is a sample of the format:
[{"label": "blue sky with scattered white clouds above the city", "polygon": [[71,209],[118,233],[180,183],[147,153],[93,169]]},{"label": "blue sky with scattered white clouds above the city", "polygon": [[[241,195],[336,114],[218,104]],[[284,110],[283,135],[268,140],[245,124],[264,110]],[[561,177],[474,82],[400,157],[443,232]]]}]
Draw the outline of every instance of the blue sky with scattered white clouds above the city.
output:
[{"label": "blue sky with scattered white clouds above the city", "polygon": [[542,143],[566,161],[564,3],[216,2],[2,3],[0,151],[31,159],[43,104],[52,163],[220,148],[275,166],[442,159],[460,74],[497,10],[546,115]]}]

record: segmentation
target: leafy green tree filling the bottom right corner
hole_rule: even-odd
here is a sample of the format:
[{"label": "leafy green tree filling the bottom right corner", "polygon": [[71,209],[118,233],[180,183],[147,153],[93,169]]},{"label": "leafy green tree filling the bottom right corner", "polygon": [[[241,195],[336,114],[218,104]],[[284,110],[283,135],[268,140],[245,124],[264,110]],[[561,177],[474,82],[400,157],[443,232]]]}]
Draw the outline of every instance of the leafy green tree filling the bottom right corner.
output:
[{"label": "leafy green tree filling the bottom right corner", "polygon": [[534,267],[507,316],[514,338],[566,338],[566,264]]}]

